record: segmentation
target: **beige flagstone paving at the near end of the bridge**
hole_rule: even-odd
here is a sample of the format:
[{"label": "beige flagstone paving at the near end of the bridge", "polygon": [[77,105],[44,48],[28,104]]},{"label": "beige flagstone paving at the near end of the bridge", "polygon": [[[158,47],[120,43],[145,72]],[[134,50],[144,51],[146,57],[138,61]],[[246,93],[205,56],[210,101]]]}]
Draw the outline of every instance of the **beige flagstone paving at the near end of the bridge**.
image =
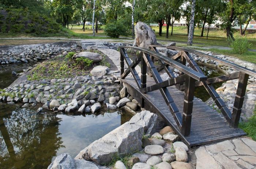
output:
[{"label": "beige flagstone paving at the near end of the bridge", "polygon": [[256,169],[256,142],[245,137],[200,146],[196,169]]}]

